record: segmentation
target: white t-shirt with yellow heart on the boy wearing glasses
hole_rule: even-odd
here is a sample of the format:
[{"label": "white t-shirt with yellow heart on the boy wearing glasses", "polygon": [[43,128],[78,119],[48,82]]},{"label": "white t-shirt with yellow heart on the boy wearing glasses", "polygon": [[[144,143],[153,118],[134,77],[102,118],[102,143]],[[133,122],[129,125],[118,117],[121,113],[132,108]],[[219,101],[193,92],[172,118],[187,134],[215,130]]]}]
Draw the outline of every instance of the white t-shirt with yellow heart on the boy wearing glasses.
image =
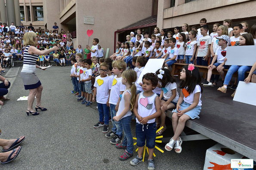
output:
[{"label": "white t-shirt with yellow heart on the boy wearing glasses", "polygon": [[111,79],[106,77],[97,76],[93,85],[97,89],[96,101],[97,103],[106,104],[109,97],[109,90],[111,90]]}]

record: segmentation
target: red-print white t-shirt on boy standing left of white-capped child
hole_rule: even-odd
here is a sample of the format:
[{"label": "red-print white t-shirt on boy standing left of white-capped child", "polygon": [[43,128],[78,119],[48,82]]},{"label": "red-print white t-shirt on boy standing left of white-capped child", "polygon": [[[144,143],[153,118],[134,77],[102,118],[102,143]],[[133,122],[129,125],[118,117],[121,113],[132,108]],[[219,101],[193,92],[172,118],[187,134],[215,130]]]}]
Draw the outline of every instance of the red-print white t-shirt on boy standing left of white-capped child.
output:
[{"label": "red-print white t-shirt on boy standing left of white-capped child", "polygon": [[198,47],[198,52],[197,52],[197,57],[204,57],[207,55],[208,49],[209,49],[209,44],[212,43],[212,37],[207,35],[203,36],[198,40],[197,46]]}]

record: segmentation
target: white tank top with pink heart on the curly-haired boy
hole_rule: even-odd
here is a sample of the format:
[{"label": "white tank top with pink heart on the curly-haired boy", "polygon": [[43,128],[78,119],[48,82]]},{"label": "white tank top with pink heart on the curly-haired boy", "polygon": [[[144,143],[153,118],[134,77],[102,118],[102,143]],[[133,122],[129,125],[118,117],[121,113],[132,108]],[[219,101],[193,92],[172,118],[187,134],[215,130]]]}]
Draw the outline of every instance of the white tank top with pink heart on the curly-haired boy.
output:
[{"label": "white tank top with pink heart on the curly-haired boy", "polygon": [[[138,113],[142,118],[145,118],[149,115],[153,115],[156,110],[155,106],[155,100],[156,100],[157,94],[153,94],[151,96],[144,96],[144,92],[139,94],[139,99],[138,99]],[[118,109],[119,110],[119,109]],[[136,118],[136,122],[139,123],[139,120]],[[154,123],[155,118],[152,118],[148,120],[148,123]],[[139,123],[142,124],[142,123]]]}]

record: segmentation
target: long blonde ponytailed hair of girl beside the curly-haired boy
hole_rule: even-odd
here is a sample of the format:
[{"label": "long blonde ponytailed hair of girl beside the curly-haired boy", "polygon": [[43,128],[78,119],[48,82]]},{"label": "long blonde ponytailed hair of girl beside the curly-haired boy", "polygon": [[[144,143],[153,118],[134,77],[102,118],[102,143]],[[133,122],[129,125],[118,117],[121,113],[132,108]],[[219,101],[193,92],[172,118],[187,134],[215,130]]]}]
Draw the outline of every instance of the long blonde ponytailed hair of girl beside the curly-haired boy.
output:
[{"label": "long blonde ponytailed hair of girl beside the curly-haired boy", "polygon": [[135,82],[137,80],[137,73],[134,70],[125,70],[122,73],[122,77],[127,80],[132,86],[130,87],[131,89],[131,100],[130,100],[130,111],[133,111],[133,106],[136,101],[136,85]]}]

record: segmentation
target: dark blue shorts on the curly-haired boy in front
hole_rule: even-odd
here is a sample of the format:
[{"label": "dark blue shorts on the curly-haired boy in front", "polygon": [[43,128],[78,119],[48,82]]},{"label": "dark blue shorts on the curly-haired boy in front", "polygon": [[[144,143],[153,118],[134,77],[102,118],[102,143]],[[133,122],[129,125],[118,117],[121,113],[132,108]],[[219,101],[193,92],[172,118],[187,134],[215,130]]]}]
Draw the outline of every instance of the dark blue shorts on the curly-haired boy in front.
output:
[{"label": "dark blue shorts on the curly-haired boy in front", "polygon": [[147,123],[147,124],[136,123],[137,146],[138,147],[145,146],[145,140],[147,140],[146,146],[149,149],[154,148],[155,140],[157,136],[156,132],[157,132],[156,122]]}]

